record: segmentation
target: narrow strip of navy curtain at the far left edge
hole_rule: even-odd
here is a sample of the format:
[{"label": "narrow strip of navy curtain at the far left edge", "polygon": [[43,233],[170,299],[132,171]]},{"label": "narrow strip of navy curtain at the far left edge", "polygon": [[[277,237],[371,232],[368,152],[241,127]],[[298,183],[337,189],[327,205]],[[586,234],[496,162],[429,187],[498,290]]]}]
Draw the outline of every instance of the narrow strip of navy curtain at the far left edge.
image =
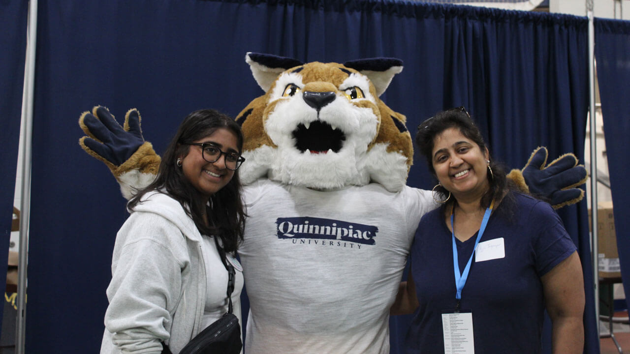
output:
[{"label": "narrow strip of navy curtain at the far left edge", "polygon": [[[15,191],[15,171],[18,163],[18,142],[20,140],[20,118],[22,108],[22,87],[24,83],[24,62],[26,53],[26,1],[0,2],[0,260],[9,255],[11,239],[11,218],[13,215],[13,194]],[[16,205],[20,208],[20,205]],[[6,264],[6,263],[5,263]],[[0,284],[6,283],[6,273],[0,271]],[[0,323],[3,306],[0,306]]]}]

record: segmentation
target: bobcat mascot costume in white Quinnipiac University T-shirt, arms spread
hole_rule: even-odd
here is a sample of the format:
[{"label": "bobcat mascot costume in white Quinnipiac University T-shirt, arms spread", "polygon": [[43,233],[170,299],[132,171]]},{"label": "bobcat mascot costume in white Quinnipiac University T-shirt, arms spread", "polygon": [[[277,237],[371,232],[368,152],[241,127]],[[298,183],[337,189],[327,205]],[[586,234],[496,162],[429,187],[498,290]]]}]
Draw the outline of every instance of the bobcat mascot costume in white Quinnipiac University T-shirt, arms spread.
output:
[{"label": "bobcat mascot costume in white Quinnipiac University T-shirt, arms spread", "polygon": [[[248,219],[239,254],[249,295],[245,348],[253,354],[389,353],[389,307],[432,192],[406,186],[413,147],[405,117],[379,96],[397,59],[345,64],[246,55],[265,94],[236,120]],[[81,146],[129,198],[159,157],[130,110],[124,128],[103,107],[79,123]],[[586,178],[573,155],[546,150],[511,177],[556,207],[575,203]],[[561,173],[562,172],[562,173]],[[563,189],[563,190],[561,190]]]}]

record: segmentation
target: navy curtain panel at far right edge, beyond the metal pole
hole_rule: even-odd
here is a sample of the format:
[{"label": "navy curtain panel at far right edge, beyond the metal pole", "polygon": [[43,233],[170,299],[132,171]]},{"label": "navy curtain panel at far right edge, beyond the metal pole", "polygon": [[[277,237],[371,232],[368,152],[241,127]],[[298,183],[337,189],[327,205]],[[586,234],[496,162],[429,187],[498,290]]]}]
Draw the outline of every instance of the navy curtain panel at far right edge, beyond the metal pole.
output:
[{"label": "navy curtain panel at far right edge, beyond the metal pole", "polygon": [[621,278],[630,294],[630,200],[625,185],[630,157],[624,149],[630,136],[630,21],[595,20],[595,58]]}]

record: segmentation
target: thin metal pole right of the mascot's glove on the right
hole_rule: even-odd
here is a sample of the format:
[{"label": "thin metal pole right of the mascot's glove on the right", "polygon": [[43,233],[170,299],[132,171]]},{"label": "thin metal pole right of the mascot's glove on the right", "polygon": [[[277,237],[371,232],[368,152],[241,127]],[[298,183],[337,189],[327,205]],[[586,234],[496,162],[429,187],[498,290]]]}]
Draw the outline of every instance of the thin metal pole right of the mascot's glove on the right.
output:
[{"label": "thin metal pole right of the mascot's glove on the right", "polygon": [[[591,261],[593,265],[593,288],[595,288],[595,321],[599,336],[599,250],[597,249],[597,124],[595,117],[595,25],[593,23],[593,0],[587,0],[588,16],[588,81],[590,115],[590,179],[591,179]],[[597,341],[599,346],[599,341]]]}]

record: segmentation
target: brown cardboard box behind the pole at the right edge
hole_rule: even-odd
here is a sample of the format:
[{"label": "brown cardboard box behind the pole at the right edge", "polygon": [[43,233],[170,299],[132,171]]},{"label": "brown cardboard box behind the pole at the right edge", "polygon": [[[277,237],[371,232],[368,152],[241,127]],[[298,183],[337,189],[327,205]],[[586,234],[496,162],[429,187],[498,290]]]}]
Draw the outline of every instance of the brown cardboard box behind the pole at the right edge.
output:
[{"label": "brown cardboard box behind the pole at the right edge", "polygon": [[[591,227],[590,223],[591,212],[588,210],[589,227]],[[597,204],[597,253],[599,277],[621,277],[612,202],[600,202]]]}]

